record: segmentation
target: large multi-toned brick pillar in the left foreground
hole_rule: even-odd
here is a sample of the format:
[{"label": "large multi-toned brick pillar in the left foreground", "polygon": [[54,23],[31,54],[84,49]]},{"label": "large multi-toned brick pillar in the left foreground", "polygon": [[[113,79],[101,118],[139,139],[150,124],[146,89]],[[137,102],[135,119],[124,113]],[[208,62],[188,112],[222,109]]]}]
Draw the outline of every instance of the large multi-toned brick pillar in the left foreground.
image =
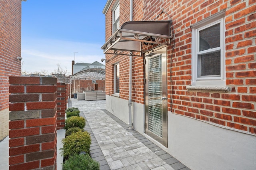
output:
[{"label": "large multi-toned brick pillar in the left foreground", "polygon": [[57,79],[10,77],[10,170],[56,169]]}]

